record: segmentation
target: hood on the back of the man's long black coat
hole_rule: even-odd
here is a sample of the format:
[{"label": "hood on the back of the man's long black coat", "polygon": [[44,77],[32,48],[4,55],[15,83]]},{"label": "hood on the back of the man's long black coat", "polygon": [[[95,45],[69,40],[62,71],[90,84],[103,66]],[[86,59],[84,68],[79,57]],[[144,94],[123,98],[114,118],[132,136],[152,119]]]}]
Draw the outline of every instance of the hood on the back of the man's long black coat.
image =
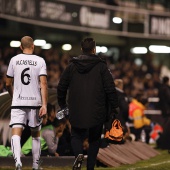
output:
[{"label": "hood on the back of the man's long black coat", "polygon": [[74,57],[70,62],[74,63],[79,73],[88,73],[99,62],[105,62],[97,55],[80,55]]}]

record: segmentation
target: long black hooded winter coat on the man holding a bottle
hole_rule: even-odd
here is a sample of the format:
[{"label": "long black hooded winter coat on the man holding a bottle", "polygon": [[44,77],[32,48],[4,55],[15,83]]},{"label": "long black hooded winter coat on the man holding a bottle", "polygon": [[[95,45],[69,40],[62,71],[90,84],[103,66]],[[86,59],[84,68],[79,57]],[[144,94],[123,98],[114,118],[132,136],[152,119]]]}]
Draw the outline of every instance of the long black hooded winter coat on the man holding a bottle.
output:
[{"label": "long black hooded winter coat on the man holding a bottle", "polygon": [[66,105],[68,90],[69,120],[73,127],[90,128],[104,123],[107,101],[111,112],[118,98],[106,62],[96,55],[80,55],[71,60],[57,87],[58,104]]}]

